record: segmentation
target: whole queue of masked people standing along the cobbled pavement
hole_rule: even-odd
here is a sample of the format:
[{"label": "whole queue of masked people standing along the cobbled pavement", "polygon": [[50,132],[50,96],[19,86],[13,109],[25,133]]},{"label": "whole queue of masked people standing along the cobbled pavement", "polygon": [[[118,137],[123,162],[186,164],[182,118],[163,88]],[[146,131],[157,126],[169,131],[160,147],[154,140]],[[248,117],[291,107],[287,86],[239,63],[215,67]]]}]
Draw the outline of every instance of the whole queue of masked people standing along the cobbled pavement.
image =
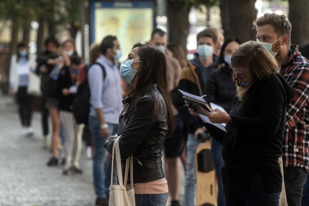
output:
[{"label": "whole queue of masked people standing along the cobbled pavement", "polygon": [[[224,39],[223,31],[214,28],[199,32],[190,61],[176,40],[167,44],[167,33],[159,28],[146,44],[133,45],[122,62],[116,36],[91,46],[88,65],[78,56],[73,39],[60,45],[55,37],[47,38],[36,65],[20,43],[12,57],[10,83],[23,134],[33,134],[34,97],[27,93],[27,84],[28,74],[35,72],[41,79],[44,147],[53,152],[47,165],[59,161],[64,175],[82,174],[84,140],[88,157],[93,157],[95,205],[108,205],[110,178],[117,182],[109,153],[118,137],[122,159],[133,155],[136,205],[165,205],[169,194],[171,206],[179,206],[181,172],[184,205],[195,205],[200,133],[211,139],[218,206],[279,201],[308,205],[309,46],[300,53],[298,45],[291,45],[285,15],[264,14],[253,28],[257,42]],[[90,111],[86,123],[80,123],[72,103],[85,80]],[[202,111],[212,123],[226,124],[226,131],[201,121],[189,105],[184,107],[178,89],[206,94],[207,102],[221,106],[226,113]]]}]

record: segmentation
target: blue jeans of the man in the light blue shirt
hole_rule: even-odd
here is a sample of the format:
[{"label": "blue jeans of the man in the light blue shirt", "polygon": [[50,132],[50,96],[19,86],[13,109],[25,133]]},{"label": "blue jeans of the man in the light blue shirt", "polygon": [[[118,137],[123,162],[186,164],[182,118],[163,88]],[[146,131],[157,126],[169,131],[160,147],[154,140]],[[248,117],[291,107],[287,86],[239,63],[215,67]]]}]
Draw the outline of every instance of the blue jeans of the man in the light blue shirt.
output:
[{"label": "blue jeans of the man in the light blue shirt", "polygon": [[107,139],[100,137],[100,122],[96,117],[89,116],[89,129],[92,134],[93,144],[95,147],[95,155],[93,157],[93,184],[97,198],[107,197],[105,186],[105,161],[109,155],[103,144]]}]

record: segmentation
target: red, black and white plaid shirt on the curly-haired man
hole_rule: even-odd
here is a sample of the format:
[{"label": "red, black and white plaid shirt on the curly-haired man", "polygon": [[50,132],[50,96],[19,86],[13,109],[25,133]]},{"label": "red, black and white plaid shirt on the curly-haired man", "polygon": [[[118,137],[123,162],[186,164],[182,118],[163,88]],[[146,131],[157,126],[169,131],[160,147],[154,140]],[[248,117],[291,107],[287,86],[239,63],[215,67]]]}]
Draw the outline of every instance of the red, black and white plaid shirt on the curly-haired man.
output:
[{"label": "red, black and white plaid shirt on the curly-haired man", "polygon": [[[296,115],[301,122],[309,124],[309,61],[291,45],[288,60],[281,67],[281,75],[292,86],[295,97],[286,107],[286,121]],[[305,167],[309,172],[309,130],[299,122],[296,126],[286,126],[282,145],[282,162],[285,167]]]}]

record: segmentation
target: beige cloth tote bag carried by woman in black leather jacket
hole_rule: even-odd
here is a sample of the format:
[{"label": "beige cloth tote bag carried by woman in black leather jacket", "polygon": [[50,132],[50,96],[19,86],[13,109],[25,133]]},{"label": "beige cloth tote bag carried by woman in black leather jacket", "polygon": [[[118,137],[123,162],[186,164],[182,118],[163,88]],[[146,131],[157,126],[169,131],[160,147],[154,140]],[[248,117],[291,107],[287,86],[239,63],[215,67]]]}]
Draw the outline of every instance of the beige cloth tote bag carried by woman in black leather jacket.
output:
[{"label": "beige cloth tote bag carried by woman in black leather jacket", "polygon": [[[119,137],[116,138],[113,145],[112,160],[114,159],[114,153],[116,156],[117,174],[119,185],[113,185],[113,174],[111,177],[111,186],[109,187],[109,206],[135,206],[135,196],[133,188],[133,157],[129,157],[125,164],[125,181],[122,181],[122,170],[121,170],[121,158],[119,150]],[[113,171],[114,161],[112,161]],[[131,187],[127,187],[128,173],[130,167],[130,179]]]}]

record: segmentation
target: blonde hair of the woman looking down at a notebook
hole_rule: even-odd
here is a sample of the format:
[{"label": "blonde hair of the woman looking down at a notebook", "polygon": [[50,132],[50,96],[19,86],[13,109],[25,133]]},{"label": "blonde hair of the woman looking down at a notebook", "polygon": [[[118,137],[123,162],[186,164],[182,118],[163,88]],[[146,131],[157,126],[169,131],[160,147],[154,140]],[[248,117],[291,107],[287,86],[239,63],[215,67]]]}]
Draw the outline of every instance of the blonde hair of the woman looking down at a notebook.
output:
[{"label": "blonde hair of the woman looking down at a notebook", "polygon": [[[241,44],[231,57],[231,67],[242,67],[247,70],[247,76],[253,84],[256,80],[268,78],[271,74],[279,73],[276,59],[256,41],[248,41]],[[251,85],[250,84],[250,85]],[[247,87],[237,87],[237,97],[243,100]]]}]

